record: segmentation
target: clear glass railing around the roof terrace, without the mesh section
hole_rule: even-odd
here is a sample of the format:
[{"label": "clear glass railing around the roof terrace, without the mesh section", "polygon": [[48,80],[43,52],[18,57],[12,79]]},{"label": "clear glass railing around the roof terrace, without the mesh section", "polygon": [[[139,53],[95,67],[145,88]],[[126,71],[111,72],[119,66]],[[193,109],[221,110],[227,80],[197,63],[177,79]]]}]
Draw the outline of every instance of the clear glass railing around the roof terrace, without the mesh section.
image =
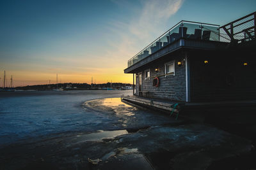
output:
[{"label": "clear glass railing around the roof terrace, without the mesh section", "polygon": [[220,25],[182,20],[128,60],[128,67],[180,38],[220,41]]}]

